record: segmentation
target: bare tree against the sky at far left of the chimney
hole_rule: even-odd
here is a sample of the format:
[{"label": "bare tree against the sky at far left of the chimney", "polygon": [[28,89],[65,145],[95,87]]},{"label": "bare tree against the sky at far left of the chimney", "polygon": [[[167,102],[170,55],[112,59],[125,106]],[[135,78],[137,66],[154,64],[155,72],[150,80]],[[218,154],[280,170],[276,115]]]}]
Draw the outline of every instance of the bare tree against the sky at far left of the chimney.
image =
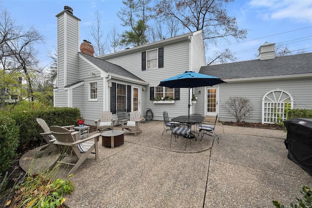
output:
[{"label": "bare tree against the sky at far left of the chimney", "polygon": [[[35,72],[40,72],[39,61],[36,58],[36,43],[43,42],[44,38],[34,28],[24,29],[11,19],[6,10],[1,10],[0,18],[0,54],[2,70],[11,75],[21,73],[27,81],[27,91],[33,101],[34,89],[32,78]],[[2,100],[2,99],[1,99]]]}]

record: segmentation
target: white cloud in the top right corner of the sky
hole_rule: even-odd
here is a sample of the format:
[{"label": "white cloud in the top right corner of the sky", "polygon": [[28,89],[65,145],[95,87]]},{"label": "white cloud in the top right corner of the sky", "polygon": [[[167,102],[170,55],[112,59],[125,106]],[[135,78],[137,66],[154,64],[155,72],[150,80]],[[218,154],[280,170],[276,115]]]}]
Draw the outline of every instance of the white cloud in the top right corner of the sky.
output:
[{"label": "white cloud in the top right corner of the sky", "polygon": [[311,0],[251,0],[249,5],[264,20],[312,21]]}]

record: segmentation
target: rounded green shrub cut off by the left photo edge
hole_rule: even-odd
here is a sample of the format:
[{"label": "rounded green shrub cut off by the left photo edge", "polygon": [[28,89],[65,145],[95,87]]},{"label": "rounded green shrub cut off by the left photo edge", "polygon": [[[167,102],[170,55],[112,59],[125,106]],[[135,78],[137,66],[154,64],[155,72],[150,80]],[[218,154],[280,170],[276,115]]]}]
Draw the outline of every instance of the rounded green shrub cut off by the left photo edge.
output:
[{"label": "rounded green shrub cut off by the left photo edge", "polygon": [[[10,162],[17,156],[16,148],[19,145],[19,128],[8,116],[0,115],[0,174],[9,167]],[[0,175],[0,182],[3,175]]]}]

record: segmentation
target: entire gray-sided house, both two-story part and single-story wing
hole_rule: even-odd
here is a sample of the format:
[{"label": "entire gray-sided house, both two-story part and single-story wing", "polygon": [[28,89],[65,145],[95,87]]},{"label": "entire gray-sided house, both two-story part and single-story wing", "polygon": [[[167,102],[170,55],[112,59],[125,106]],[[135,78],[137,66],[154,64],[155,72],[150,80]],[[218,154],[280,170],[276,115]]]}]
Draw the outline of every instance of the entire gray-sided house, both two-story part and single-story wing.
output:
[{"label": "entire gray-sided house, both two-story part and single-story wing", "polygon": [[[220,77],[227,83],[191,90],[197,97],[191,113],[219,115],[235,121],[223,108],[230,97],[248,98],[252,117],[246,122],[275,123],[291,108],[312,109],[312,53],[275,57],[274,44],[259,47],[258,60],[206,66],[202,31],[148,43],[101,57],[94,57],[90,42],[79,47],[79,22],[70,7],[58,19],[58,74],[54,80],[55,106],[78,107],[86,124],[94,125],[99,113],[147,108],[154,120],[188,114],[189,91],[157,86],[161,80],[185,71]],[[79,52],[80,49],[80,52]],[[170,97],[169,100],[161,98]]]}]

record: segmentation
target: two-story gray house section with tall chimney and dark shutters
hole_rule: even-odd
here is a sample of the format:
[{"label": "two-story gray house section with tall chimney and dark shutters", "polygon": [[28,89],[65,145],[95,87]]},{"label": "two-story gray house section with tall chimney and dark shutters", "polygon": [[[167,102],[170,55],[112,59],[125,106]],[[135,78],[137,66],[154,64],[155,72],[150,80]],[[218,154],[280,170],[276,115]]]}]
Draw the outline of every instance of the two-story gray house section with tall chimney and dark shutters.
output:
[{"label": "two-story gray house section with tall chimney and dark shutters", "polygon": [[[80,20],[73,10],[65,6],[56,17],[55,106],[78,107],[89,125],[103,110],[112,111],[115,119],[117,112],[135,110],[144,117],[147,108],[153,110],[154,120],[163,120],[163,111],[171,117],[188,114],[188,89],[157,85],[184,71],[198,72],[205,65],[202,31],[95,58],[90,42],[81,43],[79,52]],[[155,101],[166,96],[174,100]]]}]

